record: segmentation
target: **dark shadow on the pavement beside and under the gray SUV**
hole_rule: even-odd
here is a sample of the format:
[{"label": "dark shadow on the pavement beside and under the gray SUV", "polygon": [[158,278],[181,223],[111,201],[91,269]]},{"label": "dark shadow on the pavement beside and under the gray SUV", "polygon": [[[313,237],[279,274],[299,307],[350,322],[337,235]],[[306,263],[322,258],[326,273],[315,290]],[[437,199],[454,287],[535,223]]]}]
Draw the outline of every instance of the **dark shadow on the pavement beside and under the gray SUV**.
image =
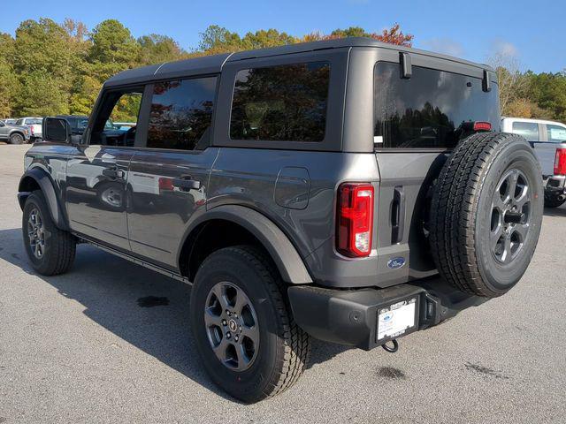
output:
[{"label": "dark shadow on the pavement beside and under the gray SUV", "polygon": [[[85,307],[84,314],[127,343],[226,399],[204,373],[189,323],[190,287],[93,246],[80,245],[62,276],[40,276],[31,268],[21,230],[0,231],[0,261],[38,276],[61,296]],[[313,340],[310,367],[348,347]]]}]

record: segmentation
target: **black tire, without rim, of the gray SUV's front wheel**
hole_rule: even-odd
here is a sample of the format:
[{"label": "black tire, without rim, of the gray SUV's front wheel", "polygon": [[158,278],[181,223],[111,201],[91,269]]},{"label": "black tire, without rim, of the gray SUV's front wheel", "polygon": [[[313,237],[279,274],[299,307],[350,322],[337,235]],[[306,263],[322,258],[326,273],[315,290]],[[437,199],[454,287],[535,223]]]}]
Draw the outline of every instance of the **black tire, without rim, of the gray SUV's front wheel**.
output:
[{"label": "black tire, without rim, of the gray SUV's front wheel", "polygon": [[[39,211],[44,226],[45,251],[42,258],[37,258],[32,252],[30,237],[27,232],[29,216],[34,209]],[[40,190],[34,191],[27,198],[21,228],[27,257],[31,261],[32,267],[39,274],[57,276],[64,274],[71,268],[76,250],[76,239],[71,233],[58,229],[53,223],[47,203]]]}]

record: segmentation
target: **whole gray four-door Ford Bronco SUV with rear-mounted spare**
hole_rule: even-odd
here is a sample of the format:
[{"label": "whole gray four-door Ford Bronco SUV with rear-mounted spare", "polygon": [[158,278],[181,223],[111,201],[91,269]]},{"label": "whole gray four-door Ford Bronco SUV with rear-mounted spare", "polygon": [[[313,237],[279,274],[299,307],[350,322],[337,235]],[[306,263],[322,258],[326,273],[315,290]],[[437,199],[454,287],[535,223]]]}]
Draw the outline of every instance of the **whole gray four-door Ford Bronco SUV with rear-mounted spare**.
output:
[{"label": "whole gray four-door Ford Bronco SUV with rear-mounted spare", "polygon": [[[116,110],[136,125],[107,130]],[[203,367],[255,402],[298,379],[310,337],[394,351],[517,283],[544,196],[500,121],[489,67],[371,39],[121,72],[80,142],[44,119],[24,243],[42,275],[90,243],[192,284]]]}]

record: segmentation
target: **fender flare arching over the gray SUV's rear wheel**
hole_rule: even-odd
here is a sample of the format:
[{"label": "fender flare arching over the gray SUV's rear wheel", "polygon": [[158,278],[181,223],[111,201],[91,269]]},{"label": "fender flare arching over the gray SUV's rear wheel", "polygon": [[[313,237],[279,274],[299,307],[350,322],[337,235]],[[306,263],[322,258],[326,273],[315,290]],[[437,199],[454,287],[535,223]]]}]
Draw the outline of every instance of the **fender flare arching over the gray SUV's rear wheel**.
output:
[{"label": "fender flare arching over the gray SUV's rear wheel", "polygon": [[[312,278],[304,261],[285,233],[269,218],[252,208],[239,205],[223,205],[211,208],[189,225],[180,246],[185,244],[187,238],[198,225],[214,219],[236,223],[252,233],[271,255],[279,269],[281,278],[287,283],[312,283]],[[180,250],[179,248],[179,252]],[[179,263],[180,254],[178,254],[177,261]]]}]

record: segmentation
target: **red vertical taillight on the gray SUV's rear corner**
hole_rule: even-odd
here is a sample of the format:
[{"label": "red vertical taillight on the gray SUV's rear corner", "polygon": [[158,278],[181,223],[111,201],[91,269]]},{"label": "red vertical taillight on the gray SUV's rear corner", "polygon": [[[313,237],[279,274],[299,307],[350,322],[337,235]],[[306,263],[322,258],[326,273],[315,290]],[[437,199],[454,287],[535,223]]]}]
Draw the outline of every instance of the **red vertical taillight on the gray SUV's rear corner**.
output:
[{"label": "red vertical taillight on the gray SUV's rear corner", "polygon": [[373,229],[373,186],[342,184],[338,188],[336,249],[350,257],[371,253]]}]

